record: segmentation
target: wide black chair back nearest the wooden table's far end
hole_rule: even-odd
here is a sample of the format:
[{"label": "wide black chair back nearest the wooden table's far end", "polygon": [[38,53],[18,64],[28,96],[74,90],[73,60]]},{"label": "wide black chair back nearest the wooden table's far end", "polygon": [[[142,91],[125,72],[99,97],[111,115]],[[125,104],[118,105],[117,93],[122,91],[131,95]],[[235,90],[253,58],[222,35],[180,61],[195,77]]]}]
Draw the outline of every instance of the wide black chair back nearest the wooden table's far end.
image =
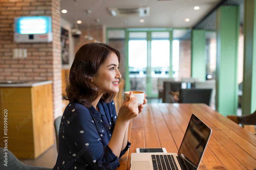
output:
[{"label": "wide black chair back nearest the wooden table's far end", "polygon": [[210,106],[212,89],[179,89],[179,103],[205,103]]}]

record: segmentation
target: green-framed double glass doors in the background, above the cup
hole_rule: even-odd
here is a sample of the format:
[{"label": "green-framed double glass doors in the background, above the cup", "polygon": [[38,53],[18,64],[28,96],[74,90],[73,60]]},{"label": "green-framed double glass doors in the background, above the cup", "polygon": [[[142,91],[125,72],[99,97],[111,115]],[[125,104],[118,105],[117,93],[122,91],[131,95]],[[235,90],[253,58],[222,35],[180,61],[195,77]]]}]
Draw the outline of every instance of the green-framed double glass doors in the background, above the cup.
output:
[{"label": "green-framed double glass doors in the background, above the cup", "polygon": [[167,79],[173,74],[170,66],[172,31],[128,31],[126,35],[129,88],[157,97],[158,79]]}]

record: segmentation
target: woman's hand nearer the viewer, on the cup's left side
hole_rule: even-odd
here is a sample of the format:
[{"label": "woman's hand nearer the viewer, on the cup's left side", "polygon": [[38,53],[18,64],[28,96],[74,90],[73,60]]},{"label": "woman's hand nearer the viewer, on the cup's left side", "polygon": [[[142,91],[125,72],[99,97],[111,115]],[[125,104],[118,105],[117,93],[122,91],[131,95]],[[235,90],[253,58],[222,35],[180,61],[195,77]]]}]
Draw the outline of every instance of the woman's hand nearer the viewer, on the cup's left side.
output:
[{"label": "woman's hand nearer the viewer, on the cup's left side", "polygon": [[139,109],[137,98],[132,97],[130,100],[130,96],[132,96],[132,91],[126,96],[124,103],[119,109],[117,119],[120,119],[121,121],[130,121],[138,115]]}]

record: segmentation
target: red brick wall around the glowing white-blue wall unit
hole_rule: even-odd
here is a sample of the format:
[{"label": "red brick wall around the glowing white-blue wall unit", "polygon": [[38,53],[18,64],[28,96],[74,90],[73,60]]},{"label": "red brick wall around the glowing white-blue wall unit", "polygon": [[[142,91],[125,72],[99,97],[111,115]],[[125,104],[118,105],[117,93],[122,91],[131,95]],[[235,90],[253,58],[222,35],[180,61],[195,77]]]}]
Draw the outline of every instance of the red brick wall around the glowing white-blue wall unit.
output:
[{"label": "red brick wall around the glowing white-blue wall unit", "polygon": [[[0,81],[53,80],[54,114],[62,115],[60,1],[0,0]],[[20,16],[51,16],[51,43],[14,43],[14,18]],[[26,48],[27,58],[13,58],[14,48]]]}]

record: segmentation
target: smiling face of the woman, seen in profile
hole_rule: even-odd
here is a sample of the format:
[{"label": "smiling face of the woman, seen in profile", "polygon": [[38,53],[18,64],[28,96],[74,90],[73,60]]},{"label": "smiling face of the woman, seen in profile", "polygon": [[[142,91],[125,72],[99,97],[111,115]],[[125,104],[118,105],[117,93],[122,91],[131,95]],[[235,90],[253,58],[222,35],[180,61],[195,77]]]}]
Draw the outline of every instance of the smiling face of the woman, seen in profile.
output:
[{"label": "smiling face of the woman, seen in profile", "polygon": [[118,68],[118,57],[112,52],[105,63],[100,66],[98,73],[92,78],[92,83],[98,87],[99,95],[118,93],[118,82],[122,77]]}]

